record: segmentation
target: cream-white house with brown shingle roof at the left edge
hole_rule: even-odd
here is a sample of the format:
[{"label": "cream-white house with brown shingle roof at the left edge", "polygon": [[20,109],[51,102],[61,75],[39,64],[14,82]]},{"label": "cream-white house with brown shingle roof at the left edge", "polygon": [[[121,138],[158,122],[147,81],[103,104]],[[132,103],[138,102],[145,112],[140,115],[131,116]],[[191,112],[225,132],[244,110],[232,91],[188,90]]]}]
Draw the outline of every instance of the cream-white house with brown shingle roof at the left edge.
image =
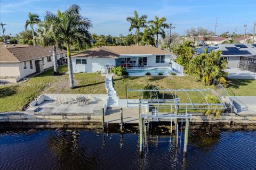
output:
[{"label": "cream-white house with brown shingle roof at the left edge", "polygon": [[[66,50],[57,50],[57,54],[60,61],[66,56]],[[0,82],[17,82],[52,66],[52,47],[1,45]]]}]

